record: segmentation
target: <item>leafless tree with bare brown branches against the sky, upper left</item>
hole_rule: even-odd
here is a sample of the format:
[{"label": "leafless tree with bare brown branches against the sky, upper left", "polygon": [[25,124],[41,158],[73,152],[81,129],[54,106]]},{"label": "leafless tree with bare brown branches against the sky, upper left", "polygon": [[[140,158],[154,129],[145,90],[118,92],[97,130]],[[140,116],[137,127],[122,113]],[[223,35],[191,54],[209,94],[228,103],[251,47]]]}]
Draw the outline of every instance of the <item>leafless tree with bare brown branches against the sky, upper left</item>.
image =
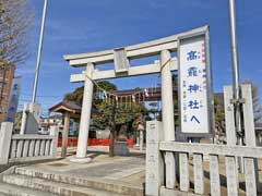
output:
[{"label": "leafless tree with bare brown branches against the sky, upper left", "polygon": [[17,65],[28,57],[29,0],[0,0],[0,65]]}]

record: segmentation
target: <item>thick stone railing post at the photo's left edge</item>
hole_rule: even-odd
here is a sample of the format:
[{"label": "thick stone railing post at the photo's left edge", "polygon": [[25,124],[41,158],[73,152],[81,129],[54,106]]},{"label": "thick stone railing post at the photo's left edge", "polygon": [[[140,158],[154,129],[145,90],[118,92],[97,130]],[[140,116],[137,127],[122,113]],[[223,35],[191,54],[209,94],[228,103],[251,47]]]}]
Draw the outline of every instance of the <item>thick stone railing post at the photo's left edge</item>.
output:
[{"label": "thick stone railing post at the photo's left edge", "polygon": [[9,160],[12,139],[13,123],[3,122],[0,128],[0,164],[7,164]]}]

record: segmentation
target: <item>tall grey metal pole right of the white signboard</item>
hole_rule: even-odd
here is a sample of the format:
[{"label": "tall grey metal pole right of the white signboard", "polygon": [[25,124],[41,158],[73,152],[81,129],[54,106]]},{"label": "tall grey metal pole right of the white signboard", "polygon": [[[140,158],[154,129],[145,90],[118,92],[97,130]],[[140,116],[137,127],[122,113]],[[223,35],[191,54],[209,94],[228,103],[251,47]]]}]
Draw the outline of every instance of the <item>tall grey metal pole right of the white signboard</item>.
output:
[{"label": "tall grey metal pole right of the white signboard", "polygon": [[[241,94],[239,83],[238,68],[238,46],[237,46],[237,28],[236,28],[236,4],[235,0],[229,0],[229,16],[230,16],[230,35],[231,35],[231,65],[234,78],[234,105],[235,105],[235,125],[237,133],[238,145],[243,145],[243,133],[241,126]],[[243,172],[243,162],[239,161],[240,171]]]}]

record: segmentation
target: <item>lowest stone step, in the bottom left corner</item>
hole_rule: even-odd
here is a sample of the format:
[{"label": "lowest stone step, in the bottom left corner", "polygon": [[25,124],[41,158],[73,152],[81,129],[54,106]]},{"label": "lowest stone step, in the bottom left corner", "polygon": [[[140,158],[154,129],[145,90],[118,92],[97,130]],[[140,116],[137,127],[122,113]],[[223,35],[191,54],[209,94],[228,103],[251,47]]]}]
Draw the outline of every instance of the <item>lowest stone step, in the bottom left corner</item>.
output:
[{"label": "lowest stone step, in the bottom left corner", "polygon": [[7,184],[0,182],[0,196],[58,196],[57,194],[51,194],[47,192],[41,192],[37,189],[29,189],[26,187],[16,186],[13,184]]}]

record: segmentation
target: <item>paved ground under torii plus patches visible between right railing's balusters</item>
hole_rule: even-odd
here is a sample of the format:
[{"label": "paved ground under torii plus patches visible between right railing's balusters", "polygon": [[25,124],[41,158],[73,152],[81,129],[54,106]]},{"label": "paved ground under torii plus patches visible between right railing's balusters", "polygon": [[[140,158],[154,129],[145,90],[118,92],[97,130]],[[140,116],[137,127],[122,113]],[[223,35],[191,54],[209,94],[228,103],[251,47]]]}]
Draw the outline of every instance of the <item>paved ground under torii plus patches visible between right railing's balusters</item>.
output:
[{"label": "paved ground under torii plus patches visible between right railing's balusters", "polygon": [[[60,149],[58,151],[60,155]],[[108,147],[95,146],[88,147],[88,157],[93,160],[88,163],[75,163],[70,159],[75,155],[75,148],[68,149],[68,157],[56,161],[35,163],[25,168],[35,169],[53,174],[64,174],[67,176],[75,176],[83,179],[93,179],[102,181],[110,181],[118,183],[130,184],[131,186],[143,187],[145,183],[145,152],[140,152],[139,149],[132,149],[129,157],[114,157],[108,156]],[[224,159],[221,160],[219,168],[222,181],[222,195],[226,195],[226,174]],[[262,162],[260,162],[262,166]],[[260,168],[261,169],[261,168]],[[205,193],[210,193],[210,166],[209,161],[204,162],[205,170]],[[193,164],[190,159],[190,181],[191,188],[193,187]],[[262,177],[262,174],[260,175]],[[239,195],[245,195],[245,187],[242,187],[243,176],[239,175],[240,189]]]}]

